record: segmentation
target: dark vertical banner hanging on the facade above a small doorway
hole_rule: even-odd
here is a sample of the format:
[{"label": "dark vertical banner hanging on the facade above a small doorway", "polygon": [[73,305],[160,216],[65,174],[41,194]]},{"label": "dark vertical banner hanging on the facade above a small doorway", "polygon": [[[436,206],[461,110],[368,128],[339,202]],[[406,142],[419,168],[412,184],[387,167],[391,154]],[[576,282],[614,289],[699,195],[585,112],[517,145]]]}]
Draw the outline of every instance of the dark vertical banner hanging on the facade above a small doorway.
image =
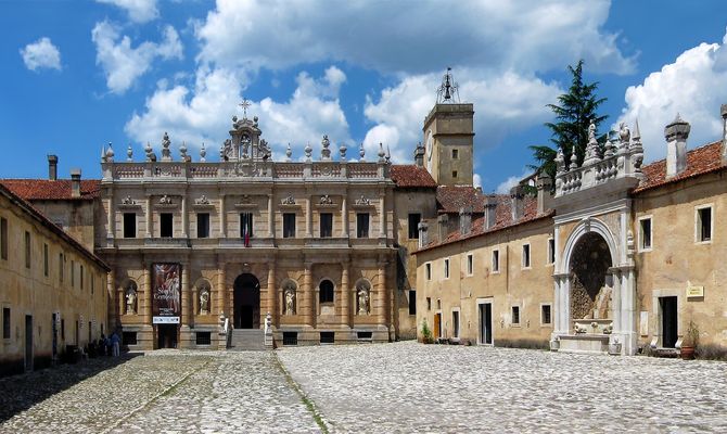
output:
[{"label": "dark vertical banner hanging on the facade above a small doorway", "polygon": [[152,323],[179,323],[180,273],[179,264],[152,264]]}]

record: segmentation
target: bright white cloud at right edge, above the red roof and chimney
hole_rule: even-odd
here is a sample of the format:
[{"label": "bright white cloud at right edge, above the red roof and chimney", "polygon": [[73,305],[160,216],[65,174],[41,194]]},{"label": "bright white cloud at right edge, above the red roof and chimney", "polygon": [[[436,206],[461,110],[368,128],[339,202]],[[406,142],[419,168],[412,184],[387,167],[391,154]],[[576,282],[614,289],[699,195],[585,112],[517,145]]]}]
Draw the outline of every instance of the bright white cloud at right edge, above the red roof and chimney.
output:
[{"label": "bright white cloud at right edge, above the red roof and chimney", "polygon": [[689,148],[717,140],[722,133],[719,105],[727,102],[727,36],[719,43],[701,43],[674,63],[626,89],[626,107],[617,123],[638,118],[645,159],[665,156],[664,127],[677,113],[691,124]]}]

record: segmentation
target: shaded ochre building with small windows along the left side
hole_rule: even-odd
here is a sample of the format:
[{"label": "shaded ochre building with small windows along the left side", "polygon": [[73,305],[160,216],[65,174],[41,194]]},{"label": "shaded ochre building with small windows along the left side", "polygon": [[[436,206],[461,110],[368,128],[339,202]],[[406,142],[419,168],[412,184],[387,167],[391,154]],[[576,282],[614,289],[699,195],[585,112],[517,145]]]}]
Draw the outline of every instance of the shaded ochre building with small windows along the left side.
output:
[{"label": "shaded ochre building with small windows along the left side", "polygon": [[[34,181],[8,183],[24,194],[56,194],[60,200],[63,184],[71,182],[56,182],[54,193],[42,193]],[[86,346],[109,332],[109,267],[4,183],[0,183],[0,375],[47,367],[66,345]]]}]

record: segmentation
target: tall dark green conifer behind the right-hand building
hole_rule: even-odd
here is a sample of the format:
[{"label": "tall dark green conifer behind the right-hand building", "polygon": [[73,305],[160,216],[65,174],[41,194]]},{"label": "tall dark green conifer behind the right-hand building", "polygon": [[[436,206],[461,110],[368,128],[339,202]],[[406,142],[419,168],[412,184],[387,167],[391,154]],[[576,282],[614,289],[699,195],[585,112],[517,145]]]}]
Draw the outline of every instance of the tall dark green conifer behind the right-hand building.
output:
[{"label": "tall dark green conifer behind the right-hand building", "polygon": [[[556,179],[554,159],[558,149],[563,150],[566,164],[574,155],[581,166],[588,145],[588,126],[592,122],[598,131],[598,126],[608,118],[605,115],[599,116],[596,113],[605,101],[605,98],[596,95],[598,81],[588,85],[583,82],[583,60],[579,60],[575,67],[569,65],[567,69],[573,77],[571,88],[567,93],[558,97],[558,104],[548,104],[548,107],[556,114],[556,120],[546,123],[545,126],[552,132],[550,142],[554,144],[554,148],[547,144],[530,146],[533,151],[533,158],[537,162],[537,165],[531,167],[548,174],[553,180]],[[601,148],[605,144],[607,136],[596,133]]]}]

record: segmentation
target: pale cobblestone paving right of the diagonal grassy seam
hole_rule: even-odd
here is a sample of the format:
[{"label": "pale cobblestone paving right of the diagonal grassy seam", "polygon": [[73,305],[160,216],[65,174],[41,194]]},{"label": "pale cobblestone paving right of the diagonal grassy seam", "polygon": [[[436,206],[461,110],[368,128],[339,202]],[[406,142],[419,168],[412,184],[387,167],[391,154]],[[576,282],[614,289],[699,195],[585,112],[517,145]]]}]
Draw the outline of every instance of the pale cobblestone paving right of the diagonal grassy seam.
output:
[{"label": "pale cobblestone paving right of the diagonal grassy seam", "polygon": [[727,432],[727,365],[422,345],[283,348],[332,432]]}]

